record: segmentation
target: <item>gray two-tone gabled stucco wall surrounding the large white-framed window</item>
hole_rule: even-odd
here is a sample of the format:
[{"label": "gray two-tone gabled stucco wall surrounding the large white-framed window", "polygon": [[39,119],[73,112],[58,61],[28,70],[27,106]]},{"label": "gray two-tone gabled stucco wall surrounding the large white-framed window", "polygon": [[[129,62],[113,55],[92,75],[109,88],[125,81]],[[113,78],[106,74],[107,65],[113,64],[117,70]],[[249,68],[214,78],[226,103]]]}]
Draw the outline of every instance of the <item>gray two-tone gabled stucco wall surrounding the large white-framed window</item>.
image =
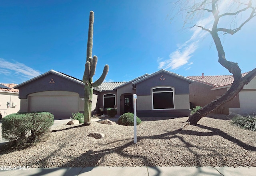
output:
[{"label": "gray two-tone gabled stucco wall surrounding the large white-framed window", "polygon": [[[190,82],[166,73],[156,74],[136,84],[138,117],[184,117],[190,115]],[[170,87],[174,89],[174,110],[153,110],[152,88]]]}]

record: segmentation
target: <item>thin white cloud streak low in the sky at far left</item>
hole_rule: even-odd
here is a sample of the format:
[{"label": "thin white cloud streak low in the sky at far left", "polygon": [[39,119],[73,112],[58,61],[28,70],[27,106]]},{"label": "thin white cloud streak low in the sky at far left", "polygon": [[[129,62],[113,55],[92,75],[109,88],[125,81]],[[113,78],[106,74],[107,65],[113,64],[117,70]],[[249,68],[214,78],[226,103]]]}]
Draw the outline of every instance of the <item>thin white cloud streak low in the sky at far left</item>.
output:
[{"label": "thin white cloud streak low in the sky at far left", "polygon": [[29,66],[26,66],[22,63],[14,61],[13,63],[10,63],[2,58],[0,58],[0,68],[2,69],[0,71],[1,74],[9,75],[20,75],[26,78],[34,78],[35,76],[40,75],[41,73],[37,70],[34,70],[33,68],[30,68]]}]

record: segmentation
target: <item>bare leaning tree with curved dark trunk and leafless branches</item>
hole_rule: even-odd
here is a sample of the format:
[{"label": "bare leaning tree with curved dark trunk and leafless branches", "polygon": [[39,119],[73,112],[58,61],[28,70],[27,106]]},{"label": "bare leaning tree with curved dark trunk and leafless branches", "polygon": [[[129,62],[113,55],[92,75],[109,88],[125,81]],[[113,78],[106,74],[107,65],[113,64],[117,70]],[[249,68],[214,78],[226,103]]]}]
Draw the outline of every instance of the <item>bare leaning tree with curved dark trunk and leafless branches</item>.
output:
[{"label": "bare leaning tree with curved dark trunk and leafless branches", "polygon": [[[223,4],[225,3],[226,12],[224,11]],[[202,117],[213,111],[218,106],[232,100],[243,88],[248,84],[254,76],[256,76],[256,68],[250,71],[246,76],[242,77],[241,70],[238,63],[227,61],[225,57],[224,48],[222,46],[219,33],[234,35],[244,27],[252,18],[256,16],[256,5],[252,0],[178,0],[174,3],[172,10],[178,10],[174,17],[186,13],[184,22],[192,24],[196,18],[202,18],[202,14],[210,13],[213,16],[212,24],[203,26],[201,24],[193,23],[190,27],[200,27],[203,31],[207,31],[212,36],[216,49],[218,51],[218,62],[224,66],[230,73],[233,74],[234,81],[230,89],[220,98],[210,102],[196,113],[190,115],[186,123],[182,126],[183,129],[187,124],[196,124]],[[242,22],[238,22],[236,18],[242,16]],[[220,19],[229,18],[230,28],[219,27],[223,25]],[[181,130],[180,129],[180,130]]]}]

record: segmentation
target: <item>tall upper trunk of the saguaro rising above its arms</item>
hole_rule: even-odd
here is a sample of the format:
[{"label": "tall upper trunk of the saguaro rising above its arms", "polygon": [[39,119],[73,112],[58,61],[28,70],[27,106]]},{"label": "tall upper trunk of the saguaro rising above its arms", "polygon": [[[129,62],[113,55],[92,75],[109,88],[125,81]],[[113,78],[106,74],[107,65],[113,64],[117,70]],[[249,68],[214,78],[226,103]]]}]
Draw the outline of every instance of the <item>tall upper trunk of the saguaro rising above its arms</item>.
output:
[{"label": "tall upper trunk of the saguaro rising above its arms", "polygon": [[92,57],[93,22],[94,22],[94,12],[90,11],[86,61],[88,61],[89,57]]}]

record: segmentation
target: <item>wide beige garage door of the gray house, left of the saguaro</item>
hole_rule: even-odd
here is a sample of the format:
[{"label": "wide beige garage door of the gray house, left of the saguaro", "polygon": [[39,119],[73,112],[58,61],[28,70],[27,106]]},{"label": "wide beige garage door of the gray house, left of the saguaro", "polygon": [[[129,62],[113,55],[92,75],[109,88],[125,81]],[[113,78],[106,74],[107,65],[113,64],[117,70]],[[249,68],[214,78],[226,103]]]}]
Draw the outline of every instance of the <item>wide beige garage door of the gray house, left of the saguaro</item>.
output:
[{"label": "wide beige garage door of the gray house, left of the saguaro", "polygon": [[29,96],[29,111],[48,111],[54,118],[69,118],[78,107],[78,95]]}]

